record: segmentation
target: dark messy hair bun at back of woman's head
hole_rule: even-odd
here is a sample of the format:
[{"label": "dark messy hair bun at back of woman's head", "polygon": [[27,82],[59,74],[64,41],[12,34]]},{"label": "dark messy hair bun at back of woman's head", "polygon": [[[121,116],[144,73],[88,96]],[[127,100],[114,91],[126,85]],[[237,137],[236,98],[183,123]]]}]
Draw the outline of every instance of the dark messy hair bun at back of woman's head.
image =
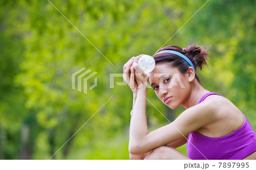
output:
[{"label": "dark messy hair bun at back of woman's head", "polygon": [[196,61],[195,68],[199,67],[201,70],[204,65],[207,65],[206,60],[208,59],[207,56],[209,55],[209,52],[204,47],[188,45],[184,51],[191,55]]}]

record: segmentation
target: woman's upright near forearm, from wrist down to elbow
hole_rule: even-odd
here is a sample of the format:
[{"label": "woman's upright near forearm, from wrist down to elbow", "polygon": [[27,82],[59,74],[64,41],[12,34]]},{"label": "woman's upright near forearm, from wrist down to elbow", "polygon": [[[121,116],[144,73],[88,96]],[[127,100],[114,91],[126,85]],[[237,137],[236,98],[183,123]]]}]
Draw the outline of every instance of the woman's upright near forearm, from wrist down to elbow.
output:
[{"label": "woman's upright near forearm, from wrist down to elbow", "polygon": [[146,119],[146,96],[147,88],[138,89],[133,107],[133,117],[130,122],[129,147],[141,145],[144,137],[148,134]]}]

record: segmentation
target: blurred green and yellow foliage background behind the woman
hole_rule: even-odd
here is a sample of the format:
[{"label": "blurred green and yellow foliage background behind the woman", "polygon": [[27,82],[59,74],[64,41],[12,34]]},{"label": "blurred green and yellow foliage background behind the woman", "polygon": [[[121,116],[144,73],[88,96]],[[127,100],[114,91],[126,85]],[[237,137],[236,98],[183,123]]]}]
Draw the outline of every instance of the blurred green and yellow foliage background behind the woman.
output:
[{"label": "blurred green and yellow foliage background behind the woman", "polygon": [[[132,92],[110,88],[110,73],[141,53],[153,55],[207,1],[47,0],[0,2],[0,159],[129,159]],[[256,129],[256,1],[209,0],[166,44],[209,48],[197,72],[205,89],[230,99]],[[80,68],[97,86],[71,88]],[[122,77],[115,78],[121,82]],[[89,84],[93,84],[93,78]],[[184,110],[148,99],[170,120]],[[169,122],[150,103],[148,130]],[[185,145],[178,148],[186,154]]]}]

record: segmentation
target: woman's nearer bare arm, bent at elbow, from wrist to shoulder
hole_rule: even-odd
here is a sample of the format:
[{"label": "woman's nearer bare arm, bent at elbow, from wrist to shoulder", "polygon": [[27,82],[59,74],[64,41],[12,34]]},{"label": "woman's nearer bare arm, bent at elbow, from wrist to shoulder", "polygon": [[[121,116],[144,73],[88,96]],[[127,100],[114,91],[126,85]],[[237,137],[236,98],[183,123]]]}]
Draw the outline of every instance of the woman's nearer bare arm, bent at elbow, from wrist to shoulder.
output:
[{"label": "woman's nearer bare arm, bent at elbow, from wrist to shoulder", "polygon": [[174,122],[148,133],[144,95],[146,95],[145,92],[138,91],[134,115],[131,119],[129,142],[129,152],[131,154],[140,155],[152,151],[156,147],[175,142],[192,131],[216,121],[216,115],[214,115],[216,107],[212,103],[204,101],[183,111]]}]

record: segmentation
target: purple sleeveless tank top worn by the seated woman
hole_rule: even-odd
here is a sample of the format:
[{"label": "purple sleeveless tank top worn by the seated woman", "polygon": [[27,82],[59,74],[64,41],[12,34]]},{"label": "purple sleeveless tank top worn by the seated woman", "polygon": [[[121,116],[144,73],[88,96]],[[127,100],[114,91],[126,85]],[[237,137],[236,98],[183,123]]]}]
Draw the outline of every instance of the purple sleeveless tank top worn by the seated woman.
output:
[{"label": "purple sleeveless tank top worn by the seated woman", "polygon": [[[204,94],[199,103],[213,94],[221,96],[220,94],[209,92]],[[218,138],[211,138],[193,131],[188,135],[188,157],[192,160],[239,160],[256,151],[256,134],[244,114],[243,120],[243,125],[236,131]]]}]

